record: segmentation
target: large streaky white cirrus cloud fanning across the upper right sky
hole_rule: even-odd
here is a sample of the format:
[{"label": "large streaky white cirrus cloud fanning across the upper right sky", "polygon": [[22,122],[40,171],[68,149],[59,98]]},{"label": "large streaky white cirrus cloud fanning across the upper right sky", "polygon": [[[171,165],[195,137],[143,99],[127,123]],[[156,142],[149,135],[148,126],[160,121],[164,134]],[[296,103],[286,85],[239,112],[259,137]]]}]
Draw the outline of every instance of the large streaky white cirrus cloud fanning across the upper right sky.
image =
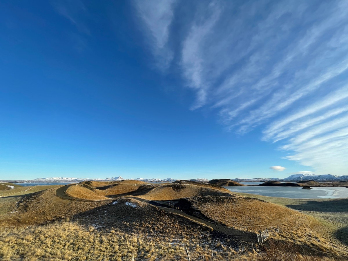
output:
[{"label": "large streaky white cirrus cloud fanning across the upper right sky", "polygon": [[156,52],[166,46],[166,53],[179,57],[176,66],[196,95],[191,109],[210,108],[237,134],[257,129],[263,141],[279,143],[286,159],[317,173],[345,174],[348,2],[177,5],[189,9],[190,17],[175,16],[167,4],[146,13],[149,21],[170,14],[165,29],[145,24],[155,39],[156,32],[162,32],[158,39],[178,38],[176,47],[157,44],[153,54],[163,59]]}]

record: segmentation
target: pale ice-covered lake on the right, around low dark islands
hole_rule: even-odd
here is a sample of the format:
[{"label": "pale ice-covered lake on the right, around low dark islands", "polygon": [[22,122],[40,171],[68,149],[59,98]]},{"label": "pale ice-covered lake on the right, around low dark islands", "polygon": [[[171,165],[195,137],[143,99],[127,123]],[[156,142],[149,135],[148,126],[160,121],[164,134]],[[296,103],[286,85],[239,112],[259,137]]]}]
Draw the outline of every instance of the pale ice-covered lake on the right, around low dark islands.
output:
[{"label": "pale ice-covered lake on the right, around low dark islands", "polygon": [[302,189],[302,187],[229,186],[224,188],[231,192],[251,193],[268,197],[348,198],[348,188],[342,187],[311,187],[312,189]]}]

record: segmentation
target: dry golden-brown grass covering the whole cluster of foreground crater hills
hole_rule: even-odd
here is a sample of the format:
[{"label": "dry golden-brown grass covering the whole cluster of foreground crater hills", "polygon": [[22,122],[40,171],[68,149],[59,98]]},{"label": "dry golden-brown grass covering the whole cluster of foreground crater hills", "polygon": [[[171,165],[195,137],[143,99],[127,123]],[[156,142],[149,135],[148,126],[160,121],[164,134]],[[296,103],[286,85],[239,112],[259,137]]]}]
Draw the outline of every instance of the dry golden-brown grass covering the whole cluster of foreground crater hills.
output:
[{"label": "dry golden-brown grass covering the whole cluster of foreground crater hills", "polygon": [[[60,196],[63,194],[66,197]],[[214,260],[227,260],[228,247],[232,248],[233,260],[267,261],[274,255],[281,256],[275,254],[274,245],[266,244],[268,250],[274,250],[263,250],[261,254],[260,249],[258,253],[250,251],[250,243],[245,242],[247,256],[243,258],[238,240],[141,198],[166,200],[162,203],[174,207],[186,202],[185,206],[193,209],[191,214],[201,213],[216,224],[245,231],[279,224],[281,235],[270,233],[278,240],[275,245],[285,242],[289,246],[284,249],[286,256],[296,256],[282,256],[282,260],[336,260],[328,257],[331,250],[322,244],[327,243],[321,237],[322,224],[300,212],[193,183],[128,182],[83,182],[17,197],[15,208],[0,216],[0,259],[131,260],[134,256],[135,260],[187,260],[184,246],[192,260],[211,260],[211,251]],[[299,228],[293,230],[295,240],[290,239],[288,227]],[[308,235],[317,241],[309,244]],[[302,247],[312,248],[310,257],[303,255]],[[337,253],[347,254],[343,246],[338,246]],[[315,258],[318,254],[320,259]]]}]

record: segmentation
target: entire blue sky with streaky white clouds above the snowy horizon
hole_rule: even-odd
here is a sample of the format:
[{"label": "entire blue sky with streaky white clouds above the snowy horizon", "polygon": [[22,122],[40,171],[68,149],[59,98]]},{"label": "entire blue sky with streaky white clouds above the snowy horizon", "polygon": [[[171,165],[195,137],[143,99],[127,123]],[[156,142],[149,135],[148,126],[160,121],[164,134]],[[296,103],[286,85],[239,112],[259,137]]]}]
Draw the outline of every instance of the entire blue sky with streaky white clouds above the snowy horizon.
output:
[{"label": "entire blue sky with streaky white clouds above the snowy horizon", "polygon": [[347,13],[1,1],[0,179],[347,174]]}]

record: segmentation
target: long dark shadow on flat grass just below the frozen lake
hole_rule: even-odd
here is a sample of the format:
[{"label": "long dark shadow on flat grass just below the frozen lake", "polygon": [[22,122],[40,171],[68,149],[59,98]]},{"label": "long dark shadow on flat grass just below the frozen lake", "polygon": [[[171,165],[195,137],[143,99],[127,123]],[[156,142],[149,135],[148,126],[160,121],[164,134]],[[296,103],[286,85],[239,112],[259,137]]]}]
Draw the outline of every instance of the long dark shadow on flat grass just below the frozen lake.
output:
[{"label": "long dark shadow on flat grass just below the frozen lake", "polygon": [[348,198],[323,201],[308,200],[302,204],[286,206],[302,211],[348,212]]}]

